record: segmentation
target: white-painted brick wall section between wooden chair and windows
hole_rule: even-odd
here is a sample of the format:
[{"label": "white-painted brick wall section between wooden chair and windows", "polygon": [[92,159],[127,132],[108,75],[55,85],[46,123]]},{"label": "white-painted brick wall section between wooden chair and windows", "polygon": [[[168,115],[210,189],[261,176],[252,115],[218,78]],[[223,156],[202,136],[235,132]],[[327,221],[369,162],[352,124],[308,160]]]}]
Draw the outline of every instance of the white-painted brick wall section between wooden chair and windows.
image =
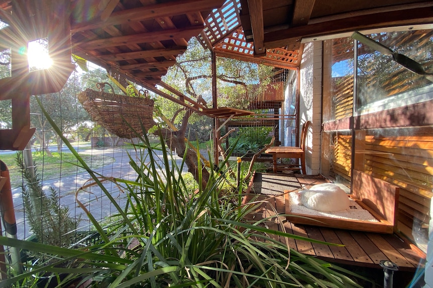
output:
[{"label": "white-painted brick wall section between wooden chair and windows", "polygon": [[300,64],[299,118],[301,126],[308,120],[312,122],[306,139],[305,162],[307,174],[313,175],[320,172],[321,53],[321,42],[305,44]]}]

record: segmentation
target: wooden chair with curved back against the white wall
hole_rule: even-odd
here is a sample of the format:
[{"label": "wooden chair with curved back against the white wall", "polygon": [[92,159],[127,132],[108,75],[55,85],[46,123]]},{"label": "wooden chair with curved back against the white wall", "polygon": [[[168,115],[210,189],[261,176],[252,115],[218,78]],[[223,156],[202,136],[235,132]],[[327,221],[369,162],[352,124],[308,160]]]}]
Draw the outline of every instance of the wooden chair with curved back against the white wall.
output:
[{"label": "wooden chair with curved back against the white wall", "polygon": [[[302,174],[306,174],[305,171],[305,139],[307,137],[308,127],[311,125],[311,121],[307,121],[302,125],[301,130],[301,142],[299,147],[286,147],[277,146],[268,148],[265,153],[272,154],[272,160],[274,164],[274,173],[277,173],[277,159],[278,158],[294,158],[300,159],[299,164],[285,165],[290,166],[290,169],[299,169]],[[294,168],[292,168],[294,167]]]}]

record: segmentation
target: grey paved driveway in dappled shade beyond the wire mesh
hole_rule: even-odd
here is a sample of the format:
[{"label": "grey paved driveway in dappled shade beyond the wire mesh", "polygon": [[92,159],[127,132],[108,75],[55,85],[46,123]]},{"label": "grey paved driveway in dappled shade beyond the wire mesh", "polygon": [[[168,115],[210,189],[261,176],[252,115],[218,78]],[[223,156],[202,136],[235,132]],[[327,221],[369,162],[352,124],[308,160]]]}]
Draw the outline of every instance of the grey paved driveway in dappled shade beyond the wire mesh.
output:
[{"label": "grey paved driveway in dappled shade beyond the wire mesh", "polygon": [[[104,150],[96,150],[96,149],[84,149],[80,148],[80,154],[90,154],[90,155],[104,155],[106,157],[112,157],[115,159],[115,162],[103,166],[99,169],[95,169],[95,172],[103,175],[104,177],[116,177],[123,178],[128,180],[135,180],[137,174],[129,165],[131,155],[132,159],[138,162],[140,158],[137,155],[136,151],[133,149],[127,150],[129,146],[125,146],[125,148],[109,148]],[[149,161],[147,153],[143,154],[143,159],[145,159],[145,163]],[[157,163],[162,165],[162,155],[156,154]],[[174,156],[177,165],[180,166],[182,159],[180,157]],[[87,163],[91,167],[91,163]],[[184,171],[186,171],[186,167],[184,167]],[[102,189],[97,186],[91,186],[85,191],[81,190],[76,193],[76,191],[85,184],[88,184],[88,180],[90,179],[90,175],[87,172],[79,173],[73,176],[61,177],[59,175],[58,179],[44,181],[43,188],[47,191],[49,186],[56,187],[60,193],[60,204],[62,206],[68,206],[69,212],[71,216],[78,217],[81,215],[80,229],[79,230],[89,230],[92,229],[90,225],[90,221],[86,215],[86,213],[81,209],[76,202],[76,199],[79,200],[86,209],[92,214],[92,216],[97,220],[102,220],[107,215],[116,214],[117,210],[115,206],[111,203],[109,198],[104,194]],[[119,189],[114,183],[106,181],[104,186],[110,192],[110,194],[117,200],[121,207],[124,207],[126,204],[126,194]],[[30,227],[25,222],[24,217],[24,205],[22,198],[22,191],[19,188],[15,188],[12,191],[15,205],[15,214],[17,219],[17,228],[18,228],[18,238],[25,239],[30,233]]]}]

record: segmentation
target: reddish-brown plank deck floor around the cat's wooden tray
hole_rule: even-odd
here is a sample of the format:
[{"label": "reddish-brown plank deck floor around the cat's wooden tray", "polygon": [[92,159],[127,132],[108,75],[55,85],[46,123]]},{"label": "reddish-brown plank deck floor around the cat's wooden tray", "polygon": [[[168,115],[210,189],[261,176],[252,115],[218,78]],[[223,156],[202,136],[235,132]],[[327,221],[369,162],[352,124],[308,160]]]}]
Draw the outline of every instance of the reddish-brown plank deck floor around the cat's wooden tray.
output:
[{"label": "reddish-brown plank deck floor around the cat's wooden tray", "polygon": [[[296,178],[300,184],[326,182],[325,179],[315,175],[297,175]],[[285,214],[283,193],[279,195],[260,194],[259,198],[267,201],[254,212],[255,219],[275,215],[275,211],[278,214]],[[401,235],[300,225],[288,222],[285,217],[280,217],[280,219],[284,228],[277,224],[275,220],[267,221],[266,225],[271,229],[285,230],[286,233],[344,244],[345,246],[331,246],[287,238],[291,248],[329,262],[380,268],[379,262],[381,260],[390,260],[398,265],[399,270],[414,271],[418,267],[420,260],[423,263],[423,259],[425,259],[425,254]],[[274,238],[281,242],[286,241],[283,237],[274,236]]]}]

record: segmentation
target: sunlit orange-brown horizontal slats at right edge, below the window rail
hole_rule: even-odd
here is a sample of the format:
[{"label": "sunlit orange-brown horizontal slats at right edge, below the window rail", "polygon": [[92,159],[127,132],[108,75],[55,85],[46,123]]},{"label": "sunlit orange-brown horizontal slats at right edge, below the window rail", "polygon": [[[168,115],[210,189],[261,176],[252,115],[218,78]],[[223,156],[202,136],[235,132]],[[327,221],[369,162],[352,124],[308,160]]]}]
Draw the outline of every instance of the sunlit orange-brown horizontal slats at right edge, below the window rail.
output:
[{"label": "sunlit orange-brown horizontal slats at right edge, below the window rail", "polygon": [[369,131],[364,169],[400,187],[397,228],[410,237],[413,225],[428,227],[433,195],[433,135],[416,127],[405,131],[407,136],[394,136],[399,135],[395,131]]}]

